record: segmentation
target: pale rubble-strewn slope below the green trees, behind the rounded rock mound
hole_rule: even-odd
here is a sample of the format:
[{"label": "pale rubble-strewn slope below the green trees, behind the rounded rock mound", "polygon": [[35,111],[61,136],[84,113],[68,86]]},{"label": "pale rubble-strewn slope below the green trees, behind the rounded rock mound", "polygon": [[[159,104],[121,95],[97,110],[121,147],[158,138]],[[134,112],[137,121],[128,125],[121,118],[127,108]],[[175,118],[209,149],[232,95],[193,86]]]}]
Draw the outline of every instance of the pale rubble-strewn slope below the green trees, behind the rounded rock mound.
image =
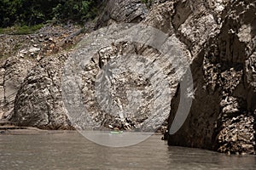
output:
[{"label": "pale rubble-strewn slope below the green trees, behind the rounded rock mound", "polygon": [[[81,36],[78,32],[79,26],[44,26],[38,32],[30,35],[0,35],[0,120],[13,122],[21,120],[19,116],[24,116],[24,113],[21,111],[18,114],[14,107],[22,102],[22,105],[30,103],[27,99],[19,100],[17,93],[20,88],[24,87],[22,83],[31,72],[39,68],[38,63],[46,62],[43,59],[45,56],[55,59],[55,56],[51,56],[52,54],[69,48],[70,45],[77,42]],[[40,71],[37,72],[40,75]],[[44,73],[42,72],[42,74]],[[18,100],[18,105],[15,105],[15,99]],[[63,114],[65,115],[65,113]],[[23,122],[18,123],[23,124]],[[33,123],[23,125],[32,126]],[[36,123],[35,126],[38,124]]]}]

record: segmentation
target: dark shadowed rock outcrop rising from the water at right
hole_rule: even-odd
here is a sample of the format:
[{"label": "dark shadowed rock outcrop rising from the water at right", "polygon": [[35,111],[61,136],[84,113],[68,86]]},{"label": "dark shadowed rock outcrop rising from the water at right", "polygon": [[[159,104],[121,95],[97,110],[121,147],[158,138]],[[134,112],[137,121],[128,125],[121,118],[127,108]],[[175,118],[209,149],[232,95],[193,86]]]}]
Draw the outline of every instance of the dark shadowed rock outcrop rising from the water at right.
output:
[{"label": "dark shadowed rock outcrop rising from the water at right", "polygon": [[[204,10],[203,14],[206,12],[212,13]],[[196,46],[191,46],[196,57],[190,66],[195,99],[183,127],[176,134],[168,135],[168,144],[228,153],[255,153],[255,12],[254,1],[233,1],[225,3],[223,12],[212,13],[217,19],[218,34],[203,38],[207,41],[200,46],[198,54],[193,53]],[[194,16],[190,14],[187,20],[191,15]],[[181,35],[193,43],[183,31]],[[201,33],[198,37],[202,37]],[[178,100],[178,96],[172,99],[170,125]]]}]

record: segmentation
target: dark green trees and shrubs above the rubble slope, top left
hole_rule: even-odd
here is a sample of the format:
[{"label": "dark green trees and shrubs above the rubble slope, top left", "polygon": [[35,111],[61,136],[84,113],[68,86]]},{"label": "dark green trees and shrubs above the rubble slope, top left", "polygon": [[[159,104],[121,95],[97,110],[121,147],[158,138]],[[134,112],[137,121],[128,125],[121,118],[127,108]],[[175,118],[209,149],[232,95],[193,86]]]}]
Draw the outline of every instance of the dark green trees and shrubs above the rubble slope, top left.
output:
[{"label": "dark green trees and shrubs above the rubble slope, top left", "polygon": [[34,26],[49,20],[83,23],[93,19],[103,0],[1,0],[0,27]]}]

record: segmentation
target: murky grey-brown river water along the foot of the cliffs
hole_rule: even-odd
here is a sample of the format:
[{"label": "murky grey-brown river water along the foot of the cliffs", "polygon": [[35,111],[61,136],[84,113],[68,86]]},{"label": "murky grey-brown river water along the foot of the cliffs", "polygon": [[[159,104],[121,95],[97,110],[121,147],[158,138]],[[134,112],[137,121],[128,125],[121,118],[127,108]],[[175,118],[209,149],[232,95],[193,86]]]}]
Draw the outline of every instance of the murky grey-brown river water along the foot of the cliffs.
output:
[{"label": "murky grey-brown river water along the foot of the cliffs", "polygon": [[78,132],[0,135],[0,169],[256,169],[256,156],[168,146],[160,137],[113,148]]}]

